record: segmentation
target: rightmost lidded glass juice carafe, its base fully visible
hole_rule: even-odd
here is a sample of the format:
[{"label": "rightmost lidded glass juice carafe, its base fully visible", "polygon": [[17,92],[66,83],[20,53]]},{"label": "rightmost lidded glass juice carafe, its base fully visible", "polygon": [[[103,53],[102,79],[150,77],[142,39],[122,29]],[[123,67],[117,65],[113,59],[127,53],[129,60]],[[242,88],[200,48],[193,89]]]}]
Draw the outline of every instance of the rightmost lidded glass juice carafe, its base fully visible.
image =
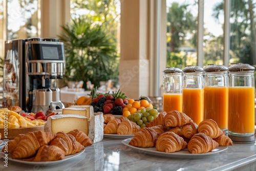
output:
[{"label": "rightmost lidded glass juice carafe, its base fully visible", "polygon": [[254,143],[255,68],[235,63],[228,68],[228,136],[235,143]]}]

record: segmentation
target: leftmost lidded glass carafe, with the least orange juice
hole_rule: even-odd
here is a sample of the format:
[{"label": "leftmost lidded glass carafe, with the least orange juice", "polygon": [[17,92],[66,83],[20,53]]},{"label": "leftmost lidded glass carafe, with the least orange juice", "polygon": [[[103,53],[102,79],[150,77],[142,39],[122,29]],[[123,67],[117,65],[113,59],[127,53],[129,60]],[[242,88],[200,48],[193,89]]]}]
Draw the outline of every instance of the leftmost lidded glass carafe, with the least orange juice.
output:
[{"label": "leftmost lidded glass carafe, with the least orange juice", "polygon": [[182,112],[182,70],[166,68],[163,73],[163,111]]}]

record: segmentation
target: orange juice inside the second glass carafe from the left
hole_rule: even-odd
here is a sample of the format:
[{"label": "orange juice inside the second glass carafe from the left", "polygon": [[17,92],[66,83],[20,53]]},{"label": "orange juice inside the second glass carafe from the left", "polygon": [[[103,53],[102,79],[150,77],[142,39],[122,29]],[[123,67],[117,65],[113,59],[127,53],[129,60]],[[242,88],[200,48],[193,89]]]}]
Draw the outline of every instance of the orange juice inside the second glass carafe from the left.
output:
[{"label": "orange juice inside the second glass carafe from the left", "polygon": [[197,125],[203,121],[203,89],[183,89],[182,112]]}]

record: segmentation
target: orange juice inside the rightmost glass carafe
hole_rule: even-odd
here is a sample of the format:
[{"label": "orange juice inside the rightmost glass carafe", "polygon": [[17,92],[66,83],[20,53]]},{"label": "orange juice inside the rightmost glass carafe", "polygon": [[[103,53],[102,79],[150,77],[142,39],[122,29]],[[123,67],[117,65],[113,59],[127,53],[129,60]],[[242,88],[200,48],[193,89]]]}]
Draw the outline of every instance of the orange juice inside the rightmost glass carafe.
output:
[{"label": "orange juice inside the rightmost glass carafe", "polygon": [[254,134],[253,87],[228,88],[228,132]]}]

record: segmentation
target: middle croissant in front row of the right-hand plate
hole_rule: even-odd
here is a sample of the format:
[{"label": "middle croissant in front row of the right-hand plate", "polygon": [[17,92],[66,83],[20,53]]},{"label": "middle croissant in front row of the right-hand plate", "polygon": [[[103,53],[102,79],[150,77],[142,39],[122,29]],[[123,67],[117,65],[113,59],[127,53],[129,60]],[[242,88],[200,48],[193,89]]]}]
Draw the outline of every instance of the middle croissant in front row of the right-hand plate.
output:
[{"label": "middle croissant in front row of the right-hand plate", "polygon": [[156,141],[157,151],[165,153],[178,152],[186,148],[187,143],[183,138],[173,132],[165,132],[161,134]]}]

